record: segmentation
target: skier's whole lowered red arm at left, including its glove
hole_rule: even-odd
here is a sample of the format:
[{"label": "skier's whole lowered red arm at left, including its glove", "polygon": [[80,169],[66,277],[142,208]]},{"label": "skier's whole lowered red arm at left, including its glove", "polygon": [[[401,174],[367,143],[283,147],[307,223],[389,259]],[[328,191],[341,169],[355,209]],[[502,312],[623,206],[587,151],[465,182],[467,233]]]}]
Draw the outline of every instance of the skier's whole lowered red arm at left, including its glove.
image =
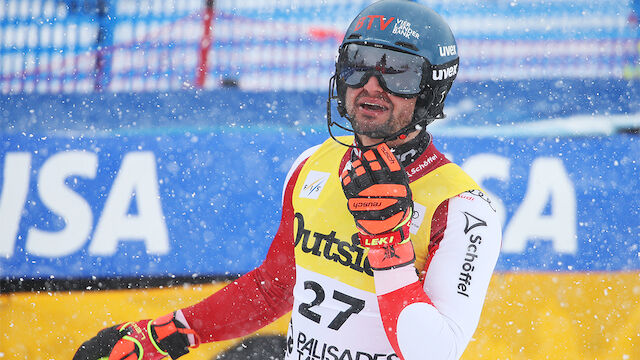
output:
[{"label": "skier's whole lowered red arm at left, including its glove", "polygon": [[205,300],[161,316],[111,326],[85,341],[74,360],[177,359],[200,342],[248,335],[291,310],[295,283],[293,189],[303,163],[294,162],[283,190],[280,227],[265,261]]}]

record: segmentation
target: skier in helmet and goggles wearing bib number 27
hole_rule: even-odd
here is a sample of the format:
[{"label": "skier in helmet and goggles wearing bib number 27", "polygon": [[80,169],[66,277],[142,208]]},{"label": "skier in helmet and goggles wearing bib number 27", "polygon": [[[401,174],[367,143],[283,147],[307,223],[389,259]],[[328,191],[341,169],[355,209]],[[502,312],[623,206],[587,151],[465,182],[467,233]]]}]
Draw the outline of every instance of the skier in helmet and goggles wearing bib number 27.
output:
[{"label": "skier in helmet and goggles wearing bib number 27", "polygon": [[[176,359],[289,311],[289,360],[460,358],[501,224],[426,131],[444,116],[458,59],[449,26],[431,9],[407,0],[364,9],[330,81],[328,103],[346,120],[334,122],[329,106],[331,138],[289,171],[262,265],[193,306],[106,328],[74,359]],[[354,136],[334,136],[335,126]]]}]

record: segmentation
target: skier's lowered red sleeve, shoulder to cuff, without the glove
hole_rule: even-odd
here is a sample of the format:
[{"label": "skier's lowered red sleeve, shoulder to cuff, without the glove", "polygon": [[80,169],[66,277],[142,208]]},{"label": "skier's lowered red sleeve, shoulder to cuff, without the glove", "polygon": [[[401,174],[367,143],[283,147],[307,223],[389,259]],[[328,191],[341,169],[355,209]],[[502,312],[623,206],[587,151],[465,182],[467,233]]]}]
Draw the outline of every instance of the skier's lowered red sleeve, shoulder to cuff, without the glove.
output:
[{"label": "skier's lowered red sleeve, shoulder to cuff, without the glove", "polygon": [[302,153],[287,174],[280,227],[262,265],[178,312],[178,318],[183,317],[202,342],[248,335],[291,310],[295,284],[293,189],[304,162],[316,149]]}]

